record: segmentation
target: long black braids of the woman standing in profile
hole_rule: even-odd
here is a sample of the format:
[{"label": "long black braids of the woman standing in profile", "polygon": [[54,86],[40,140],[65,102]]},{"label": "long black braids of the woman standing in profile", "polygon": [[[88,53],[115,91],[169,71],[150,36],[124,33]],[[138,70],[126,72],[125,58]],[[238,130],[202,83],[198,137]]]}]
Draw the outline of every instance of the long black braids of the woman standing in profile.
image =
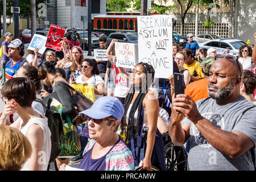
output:
[{"label": "long black braids of the woman standing in profile", "polygon": [[[135,111],[138,109],[138,117],[137,117],[137,129],[139,125],[139,119],[141,119],[141,111],[143,109],[142,103],[143,99],[146,96],[148,92],[148,87],[151,86],[153,80],[154,80],[154,75],[155,75],[155,70],[152,67],[152,65],[147,64],[147,63],[138,63],[137,65],[142,65],[144,68],[144,73],[146,74],[146,79],[142,79],[142,86],[139,88],[139,94],[135,98],[133,105],[131,106],[131,110],[129,113],[128,121],[127,121],[127,129],[126,129],[126,115],[127,111],[129,109],[129,106],[131,104],[131,100],[133,100],[134,92],[135,92],[135,86],[131,85],[130,90],[125,97],[125,101],[123,104],[123,107],[125,108],[125,113],[123,114],[123,117],[121,119],[121,135],[125,135],[126,142],[127,140],[131,140],[131,138],[134,138],[135,145],[137,145],[137,137],[139,135],[139,131],[135,131],[133,129],[134,126],[134,114]],[[152,76],[150,80],[150,76]],[[151,81],[151,82],[150,82]]]}]

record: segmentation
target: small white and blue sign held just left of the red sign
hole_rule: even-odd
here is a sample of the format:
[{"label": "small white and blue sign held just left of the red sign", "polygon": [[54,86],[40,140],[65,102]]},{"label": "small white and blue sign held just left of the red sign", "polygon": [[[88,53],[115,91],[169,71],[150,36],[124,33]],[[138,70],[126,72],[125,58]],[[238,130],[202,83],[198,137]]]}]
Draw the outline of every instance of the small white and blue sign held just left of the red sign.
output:
[{"label": "small white and blue sign held just left of the red sign", "polygon": [[38,35],[38,34],[34,34],[31,42],[30,42],[30,45],[28,46],[27,49],[31,50],[31,51],[34,51],[35,48],[38,48],[39,49],[39,53],[40,54],[43,54],[44,51],[46,51],[46,36],[43,36],[43,35]]}]

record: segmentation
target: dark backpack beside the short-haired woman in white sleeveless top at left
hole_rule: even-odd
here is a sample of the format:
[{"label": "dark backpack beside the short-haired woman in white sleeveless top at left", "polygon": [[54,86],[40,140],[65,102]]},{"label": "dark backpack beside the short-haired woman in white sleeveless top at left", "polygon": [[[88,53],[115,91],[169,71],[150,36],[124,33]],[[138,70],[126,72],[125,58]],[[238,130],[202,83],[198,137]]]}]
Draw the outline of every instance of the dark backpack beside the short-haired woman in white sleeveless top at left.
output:
[{"label": "dark backpack beside the short-haired woman in white sleeveless top at left", "polygon": [[61,135],[63,134],[63,121],[61,118],[60,113],[58,113],[56,110],[48,109],[46,104],[39,98],[36,98],[36,102],[40,102],[44,108],[46,109],[46,114],[44,114],[45,117],[48,118],[48,127],[51,131],[51,156],[49,158],[49,164],[52,163],[60,154],[61,152],[61,145],[60,145],[60,139]]}]

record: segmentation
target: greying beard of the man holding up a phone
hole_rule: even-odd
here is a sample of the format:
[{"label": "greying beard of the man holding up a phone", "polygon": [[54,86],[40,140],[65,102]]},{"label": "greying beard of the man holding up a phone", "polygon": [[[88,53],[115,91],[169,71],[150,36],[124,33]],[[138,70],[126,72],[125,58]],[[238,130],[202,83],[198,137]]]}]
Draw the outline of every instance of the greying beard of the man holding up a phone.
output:
[{"label": "greying beard of the man holding up a phone", "polygon": [[217,86],[214,86],[217,89],[217,92],[210,94],[209,93],[209,86],[214,86],[214,84],[208,84],[208,94],[210,98],[213,98],[214,100],[222,100],[225,97],[228,97],[234,90],[234,82],[230,82],[227,86],[219,89]]}]

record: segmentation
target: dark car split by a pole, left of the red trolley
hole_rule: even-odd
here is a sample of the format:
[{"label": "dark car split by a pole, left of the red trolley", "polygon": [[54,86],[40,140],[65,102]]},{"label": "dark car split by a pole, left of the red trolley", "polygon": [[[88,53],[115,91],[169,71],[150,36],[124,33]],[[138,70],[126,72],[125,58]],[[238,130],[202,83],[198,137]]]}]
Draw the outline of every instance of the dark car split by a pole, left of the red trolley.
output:
[{"label": "dark car split by a pole, left of the red trolley", "polygon": [[[94,35],[93,33],[92,35],[92,41],[91,41],[91,48],[92,49],[96,49],[98,47],[100,47],[100,43],[98,42],[98,39],[100,39],[98,36]],[[77,39],[80,42],[80,47],[85,50],[88,51],[88,31],[77,31]]]}]

